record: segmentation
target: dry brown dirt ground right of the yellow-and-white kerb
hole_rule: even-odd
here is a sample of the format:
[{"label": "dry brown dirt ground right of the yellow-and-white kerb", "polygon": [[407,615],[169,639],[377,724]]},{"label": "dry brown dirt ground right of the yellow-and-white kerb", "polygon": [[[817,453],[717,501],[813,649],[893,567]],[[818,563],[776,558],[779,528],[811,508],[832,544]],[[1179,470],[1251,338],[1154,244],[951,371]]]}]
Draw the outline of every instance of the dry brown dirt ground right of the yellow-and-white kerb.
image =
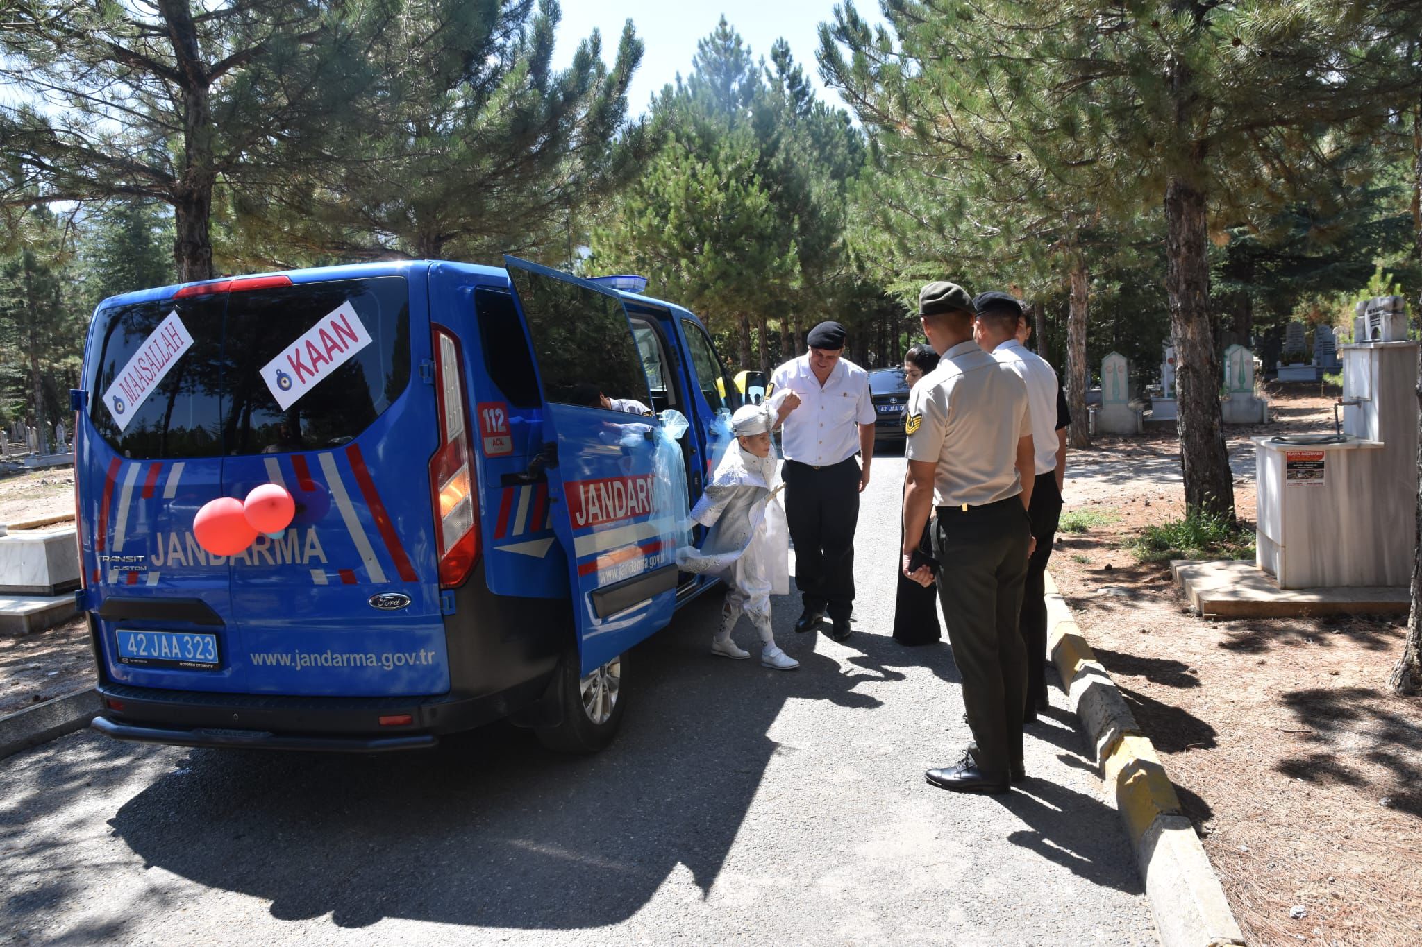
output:
[{"label": "dry brown dirt ground right of the yellow-and-white kerb", "polygon": [[[1318,386],[1270,392],[1276,423],[1227,429],[1254,520],[1247,437],[1332,429]],[[1170,427],[1068,464],[1051,572],[1160,751],[1250,944],[1422,943],[1422,700],[1386,687],[1402,618],[1204,620],[1166,565],[1123,544],[1183,510]],[[1293,919],[1301,907],[1304,916]]]}]

